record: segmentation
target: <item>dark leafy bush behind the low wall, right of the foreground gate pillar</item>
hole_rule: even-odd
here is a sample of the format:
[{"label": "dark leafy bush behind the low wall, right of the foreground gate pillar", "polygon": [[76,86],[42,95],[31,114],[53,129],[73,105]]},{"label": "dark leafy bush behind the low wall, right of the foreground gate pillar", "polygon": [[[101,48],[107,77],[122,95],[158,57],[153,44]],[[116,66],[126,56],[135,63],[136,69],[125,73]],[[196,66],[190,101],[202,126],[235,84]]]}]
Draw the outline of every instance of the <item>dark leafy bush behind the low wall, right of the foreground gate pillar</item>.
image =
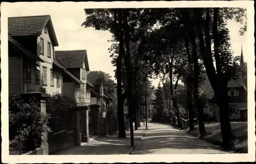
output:
[{"label": "dark leafy bush behind the low wall, right of the foreground gate pillar", "polygon": [[51,95],[46,100],[47,113],[50,114],[49,127],[58,130],[66,127],[66,119],[70,117],[72,107],[76,106],[76,100],[59,93]]}]

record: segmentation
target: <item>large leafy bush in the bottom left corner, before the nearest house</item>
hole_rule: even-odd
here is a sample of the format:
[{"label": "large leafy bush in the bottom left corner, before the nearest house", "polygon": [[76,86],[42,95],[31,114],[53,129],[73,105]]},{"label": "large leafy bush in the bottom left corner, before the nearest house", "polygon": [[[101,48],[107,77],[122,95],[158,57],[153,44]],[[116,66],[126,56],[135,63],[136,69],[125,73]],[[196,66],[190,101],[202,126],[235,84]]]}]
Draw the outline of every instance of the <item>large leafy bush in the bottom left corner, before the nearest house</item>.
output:
[{"label": "large leafy bush in the bottom left corner, before the nearest house", "polygon": [[49,132],[49,115],[40,112],[40,105],[31,98],[24,102],[20,95],[9,98],[9,144],[26,140],[26,151],[41,145],[42,133]]}]

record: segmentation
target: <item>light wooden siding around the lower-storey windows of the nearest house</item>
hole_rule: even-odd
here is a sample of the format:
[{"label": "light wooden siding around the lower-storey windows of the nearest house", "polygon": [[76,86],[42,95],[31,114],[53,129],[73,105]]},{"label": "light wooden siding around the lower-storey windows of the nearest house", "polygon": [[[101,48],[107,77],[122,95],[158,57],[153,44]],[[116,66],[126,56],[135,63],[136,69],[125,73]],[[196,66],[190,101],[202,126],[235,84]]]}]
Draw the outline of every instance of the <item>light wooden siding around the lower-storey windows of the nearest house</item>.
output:
[{"label": "light wooden siding around the lower-storey windows of the nearest house", "polygon": [[[35,84],[35,65],[38,65],[40,68],[40,83]],[[36,63],[30,63],[31,65],[31,83],[25,83],[25,91],[29,92],[31,90],[39,91],[40,87],[46,88],[46,92],[48,94],[53,94],[53,93],[61,93],[61,87],[57,87],[57,73],[56,71],[60,70],[53,70],[53,81],[54,81],[54,86],[51,86],[51,69],[52,64],[50,63],[41,63],[41,62],[36,62]],[[47,86],[43,85],[44,78],[43,78],[43,73],[42,73],[42,67],[47,68]]]}]

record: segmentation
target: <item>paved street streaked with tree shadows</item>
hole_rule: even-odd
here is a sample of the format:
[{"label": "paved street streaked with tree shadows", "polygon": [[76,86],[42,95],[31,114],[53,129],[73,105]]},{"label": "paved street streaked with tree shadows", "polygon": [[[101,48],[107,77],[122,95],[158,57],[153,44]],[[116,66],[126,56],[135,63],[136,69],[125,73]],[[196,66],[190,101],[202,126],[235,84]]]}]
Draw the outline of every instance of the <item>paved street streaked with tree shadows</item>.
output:
[{"label": "paved street streaked with tree shadows", "polygon": [[228,153],[169,125],[148,123],[148,130],[132,154]]}]

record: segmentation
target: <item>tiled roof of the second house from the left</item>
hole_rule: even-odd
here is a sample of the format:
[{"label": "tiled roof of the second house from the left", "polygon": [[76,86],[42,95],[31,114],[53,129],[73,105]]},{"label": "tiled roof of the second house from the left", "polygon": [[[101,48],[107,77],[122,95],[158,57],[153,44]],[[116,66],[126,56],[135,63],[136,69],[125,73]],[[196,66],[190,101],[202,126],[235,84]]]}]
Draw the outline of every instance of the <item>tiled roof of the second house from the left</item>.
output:
[{"label": "tiled roof of the second house from the left", "polygon": [[55,58],[66,68],[81,68],[86,65],[86,71],[90,71],[86,49],[55,51]]}]

